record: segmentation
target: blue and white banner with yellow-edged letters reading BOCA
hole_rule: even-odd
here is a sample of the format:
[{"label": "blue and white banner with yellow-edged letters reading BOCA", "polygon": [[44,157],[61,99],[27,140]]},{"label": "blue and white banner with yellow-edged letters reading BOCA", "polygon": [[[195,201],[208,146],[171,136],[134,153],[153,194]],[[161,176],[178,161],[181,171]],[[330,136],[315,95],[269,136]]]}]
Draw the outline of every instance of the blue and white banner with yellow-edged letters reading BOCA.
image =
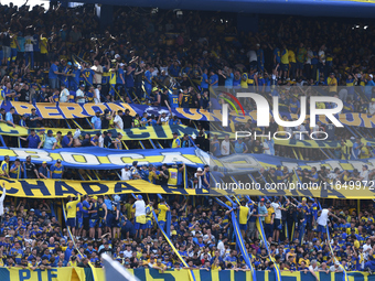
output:
[{"label": "blue and white banner with yellow-edged letters reading BOCA", "polygon": [[138,161],[139,166],[185,163],[186,166],[202,167],[210,163],[208,153],[195,148],[179,150],[115,150],[96,147],[56,150],[0,149],[0,160],[3,160],[6,155],[9,155],[11,161],[15,159],[25,161],[26,156],[30,155],[35,164],[42,164],[44,161],[47,164],[54,164],[60,159],[66,167],[86,170],[122,169],[126,164],[131,165],[133,161]]}]

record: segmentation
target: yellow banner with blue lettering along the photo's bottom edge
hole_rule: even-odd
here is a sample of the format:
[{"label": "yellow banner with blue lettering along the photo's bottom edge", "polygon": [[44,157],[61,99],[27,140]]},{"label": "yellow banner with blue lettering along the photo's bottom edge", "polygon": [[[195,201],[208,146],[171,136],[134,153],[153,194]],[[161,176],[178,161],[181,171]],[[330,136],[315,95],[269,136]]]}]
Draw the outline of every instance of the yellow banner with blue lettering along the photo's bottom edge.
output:
[{"label": "yellow banner with blue lettering along the photo's bottom edge", "polygon": [[[105,280],[104,269],[95,269],[100,281]],[[76,271],[77,273],[72,273]],[[165,270],[161,272],[157,269],[129,269],[129,272],[136,275],[140,281],[174,281],[189,280],[189,271]],[[196,281],[251,281],[250,271],[235,270],[193,270]],[[341,272],[317,272],[320,281],[342,280]],[[347,272],[352,281],[373,281],[372,274],[361,271]],[[275,272],[272,271],[256,271],[257,281],[275,281]],[[303,271],[281,271],[281,277],[288,281],[315,281],[315,278]],[[0,268],[1,281],[94,281],[90,268],[54,268],[49,270],[21,268]]]}]

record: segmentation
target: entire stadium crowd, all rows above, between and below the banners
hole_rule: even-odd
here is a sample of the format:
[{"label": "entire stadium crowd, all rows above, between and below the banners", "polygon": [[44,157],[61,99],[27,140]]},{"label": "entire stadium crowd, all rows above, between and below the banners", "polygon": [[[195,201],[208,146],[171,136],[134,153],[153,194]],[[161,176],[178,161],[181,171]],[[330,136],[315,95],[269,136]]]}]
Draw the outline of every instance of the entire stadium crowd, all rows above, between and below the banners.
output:
[{"label": "entire stadium crowd, all rows above, between and below the banners", "polygon": [[[234,22],[217,15],[184,12],[181,19],[172,11],[151,13],[144,20],[142,12],[120,8],[115,11],[114,25],[97,34],[99,22],[92,6],[65,10],[57,6],[44,11],[32,11],[13,6],[1,6],[4,20],[0,23],[0,77],[3,105],[9,101],[34,102],[103,102],[126,101],[172,108],[201,108],[218,105],[218,95],[208,97],[210,88],[227,90],[253,88],[266,97],[280,96],[283,112],[298,114],[301,86],[324,86],[322,95],[338,95],[344,101],[344,112],[375,115],[374,44],[366,44],[374,30],[356,30],[349,23],[338,34],[324,22],[300,19],[261,19],[258,33],[240,33]],[[322,29],[322,26],[332,26]],[[279,26],[275,29],[275,26]],[[318,39],[318,40],[312,40]],[[355,87],[357,86],[357,87]],[[297,96],[296,96],[297,95]],[[251,104],[245,102],[246,109]],[[331,105],[321,105],[322,108]],[[30,128],[30,136],[21,138],[22,145],[32,149],[69,147],[100,147],[122,149],[121,134],[111,136],[110,129],[130,129],[140,126],[179,125],[174,116],[136,116],[129,111],[97,112],[90,119],[90,129],[104,129],[95,136],[71,131],[66,136],[47,130],[49,120],[34,110],[18,116],[14,108],[0,111],[0,121],[10,126]],[[271,121],[269,130],[277,130]],[[63,128],[65,125],[61,125]],[[304,130],[324,130],[331,140],[341,141],[333,151],[336,159],[374,156],[368,143],[356,140],[353,149],[345,148],[347,132],[338,133],[330,126],[319,125]],[[38,129],[38,130],[36,130]],[[254,128],[253,123],[244,129]],[[36,130],[36,131],[35,131]],[[296,131],[303,131],[296,128]],[[291,130],[293,133],[293,130]],[[366,134],[367,133],[367,134]],[[371,132],[364,136],[371,138]],[[291,156],[292,151],[271,141],[245,139],[233,142],[211,139],[200,130],[199,136],[173,134],[168,145],[186,148],[197,145],[214,156],[231,153],[266,153]],[[297,136],[303,138],[304,136]],[[308,138],[308,137],[306,137]],[[6,139],[13,144],[14,139]],[[167,145],[167,147],[168,147]],[[17,147],[17,145],[10,145]],[[313,159],[312,150],[302,150]],[[138,166],[137,162],[117,171],[106,172],[104,180],[143,179],[168,185],[170,171],[181,175],[178,166]],[[182,169],[182,170],[180,170]],[[292,171],[288,167],[261,170],[259,182],[285,182]],[[79,179],[79,172],[64,169],[61,161],[36,166],[29,156],[25,163],[1,163],[1,176],[12,179]],[[185,187],[208,188],[210,167],[200,167]],[[297,170],[302,182],[330,183],[340,181],[368,182],[374,171],[329,171],[325,167]],[[174,185],[181,185],[176,176]],[[194,203],[179,195],[165,199],[156,196],[129,195],[69,197],[66,221],[56,216],[56,203],[50,201],[0,198],[0,266],[50,269],[52,267],[101,267],[100,255],[109,253],[126,268],[184,268],[157,227],[167,230],[167,214],[171,213],[170,235],[189,269],[249,270],[235,247],[231,210],[213,198],[196,197]],[[147,201],[144,201],[147,198]],[[4,201],[6,199],[6,201]],[[270,256],[280,270],[340,272],[375,270],[374,206],[363,201],[361,210],[342,206],[335,208],[311,198],[260,198],[242,201],[238,209],[239,227],[257,270],[272,270]],[[326,199],[328,201],[328,199]],[[331,204],[330,201],[328,203]],[[323,202],[322,202],[323,204]],[[265,226],[267,252],[256,229],[256,219]],[[332,257],[326,241],[326,226],[331,234]],[[74,241],[67,231],[72,230]],[[317,275],[315,275],[317,277]],[[318,278],[317,278],[318,279]]]}]

